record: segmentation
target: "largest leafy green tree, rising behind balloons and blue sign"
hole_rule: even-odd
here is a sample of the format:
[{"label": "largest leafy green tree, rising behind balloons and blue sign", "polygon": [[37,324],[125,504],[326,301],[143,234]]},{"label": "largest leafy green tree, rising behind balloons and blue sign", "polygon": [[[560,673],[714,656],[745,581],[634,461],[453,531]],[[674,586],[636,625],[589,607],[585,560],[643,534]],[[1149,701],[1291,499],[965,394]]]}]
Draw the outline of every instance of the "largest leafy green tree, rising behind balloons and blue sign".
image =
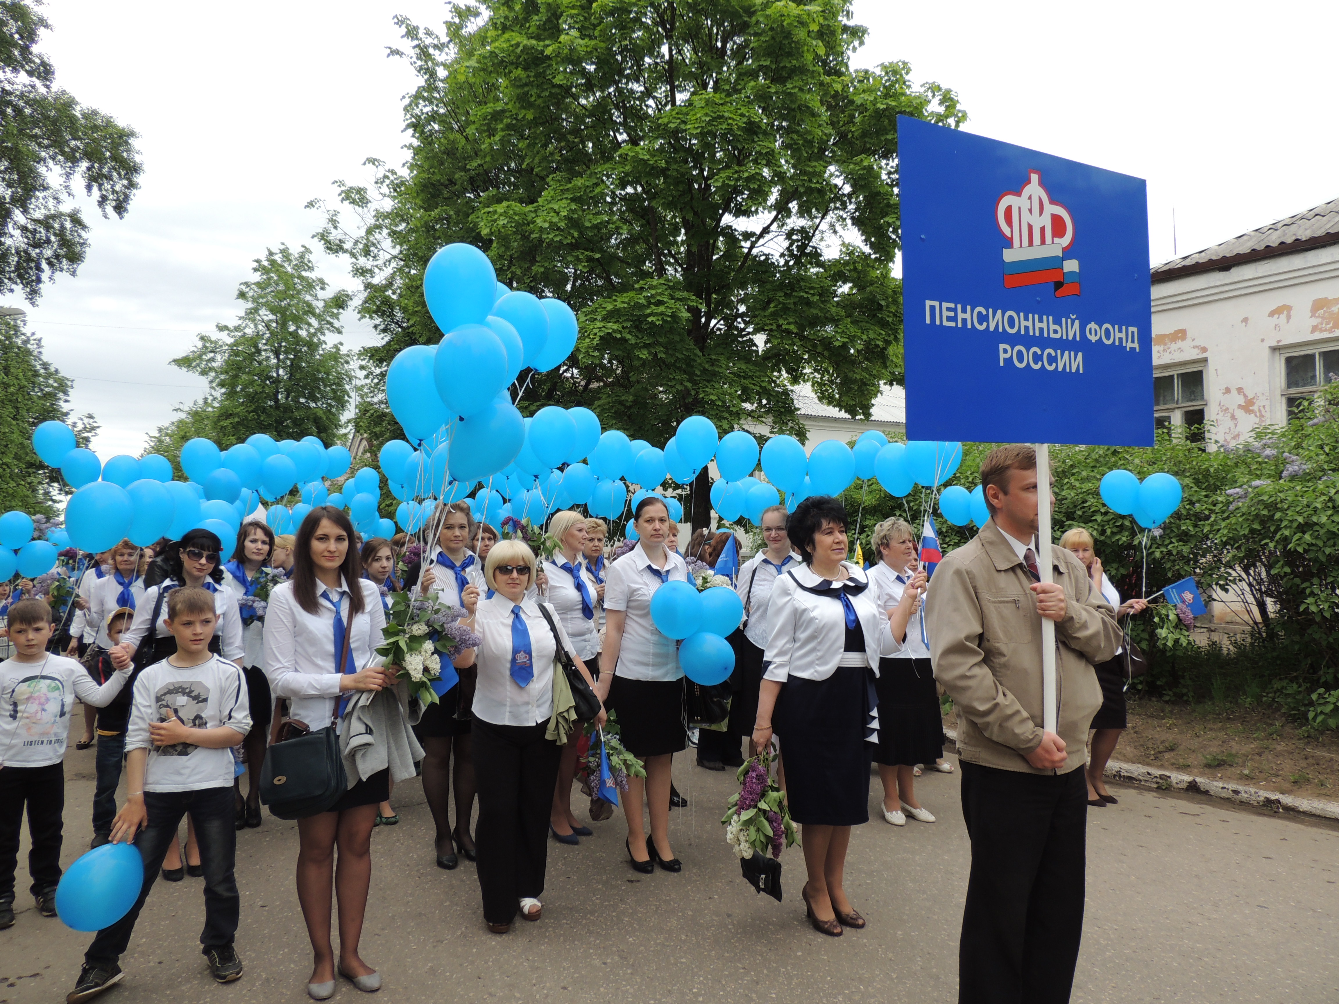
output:
[{"label": "largest leafy green tree, rising behind balloons and blue sign", "polygon": [[[442,245],[580,313],[572,359],[526,410],[592,407],[663,443],[687,415],[799,431],[790,386],[868,416],[901,375],[897,115],[959,124],[905,63],[853,70],[845,0],[489,0],[445,31],[399,24],[419,87],[403,170],[340,183],[362,312],[396,352],[441,339],[422,296]],[[368,400],[374,442],[398,430]],[[706,477],[694,523],[707,515]]]}]

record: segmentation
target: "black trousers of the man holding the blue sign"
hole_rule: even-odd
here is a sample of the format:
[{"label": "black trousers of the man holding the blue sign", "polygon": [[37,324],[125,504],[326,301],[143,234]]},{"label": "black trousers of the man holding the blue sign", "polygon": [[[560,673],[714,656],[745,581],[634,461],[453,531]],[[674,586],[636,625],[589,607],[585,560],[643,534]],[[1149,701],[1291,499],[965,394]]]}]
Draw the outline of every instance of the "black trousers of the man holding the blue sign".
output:
[{"label": "black trousers of the man holding the blue sign", "polygon": [[1083,937],[1087,783],[963,762],[972,873],[959,1004],[1063,1004]]}]

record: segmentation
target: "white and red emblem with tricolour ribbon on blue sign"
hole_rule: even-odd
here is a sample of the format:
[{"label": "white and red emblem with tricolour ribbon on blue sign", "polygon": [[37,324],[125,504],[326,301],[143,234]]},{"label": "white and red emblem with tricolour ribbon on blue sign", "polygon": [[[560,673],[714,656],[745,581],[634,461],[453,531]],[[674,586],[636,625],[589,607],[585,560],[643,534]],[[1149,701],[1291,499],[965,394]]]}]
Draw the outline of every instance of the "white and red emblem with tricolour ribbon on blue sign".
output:
[{"label": "white and red emblem with tricolour ribbon on blue sign", "polygon": [[1079,295],[1079,262],[1066,258],[1074,244],[1074,218],[1051,198],[1042,173],[1028,170],[1027,183],[995,201],[995,225],[1010,241],[1004,249],[1004,288],[1051,282],[1055,296]]}]

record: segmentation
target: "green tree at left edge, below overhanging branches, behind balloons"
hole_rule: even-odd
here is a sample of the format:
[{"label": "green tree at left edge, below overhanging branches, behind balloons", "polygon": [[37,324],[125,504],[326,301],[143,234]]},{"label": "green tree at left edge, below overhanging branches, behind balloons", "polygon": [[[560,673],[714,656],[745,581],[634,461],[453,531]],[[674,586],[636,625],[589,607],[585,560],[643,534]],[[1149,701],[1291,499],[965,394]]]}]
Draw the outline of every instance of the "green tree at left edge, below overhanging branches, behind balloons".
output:
[{"label": "green tree at left edge, below overhanging branches, behind balloons", "polygon": [[42,355],[42,340],[15,319],[0,317],[0,511],[17,509],[52,515],[68,487],[60,471],[32,450],[32,431],[43,422],[67,422],[79,446],[98,432],[92,415],[71,419],[67,403],[74,382]]}]

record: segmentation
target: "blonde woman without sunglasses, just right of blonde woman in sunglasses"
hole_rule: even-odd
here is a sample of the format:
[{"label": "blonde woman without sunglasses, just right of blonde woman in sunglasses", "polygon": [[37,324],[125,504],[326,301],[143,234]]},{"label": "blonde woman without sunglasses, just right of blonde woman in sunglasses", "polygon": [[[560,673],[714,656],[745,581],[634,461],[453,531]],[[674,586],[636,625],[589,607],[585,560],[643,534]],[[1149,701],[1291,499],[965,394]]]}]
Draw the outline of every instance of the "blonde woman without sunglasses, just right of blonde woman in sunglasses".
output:
[{"label": "blonde woman without sunglasses, just right of blonde woman in sunglasses", "polygon": [[[572,639],[577,657],[592,677],[600,679],[600,593],[604,590],[581,561],[586,546],[585,526],[585,517],[570,509],[554,513],[549,519],[549,533],[558,542],[558,550],[545,562],[549,566],[545,598]],[[577,774],[580,739],[578,734],[573,734],[558,760],[558,783],[549,817],[549,829],[558,843],[580,843],[582,837],[592,835],[590,827],[582,826],[572,814],[572,782]]]}]

